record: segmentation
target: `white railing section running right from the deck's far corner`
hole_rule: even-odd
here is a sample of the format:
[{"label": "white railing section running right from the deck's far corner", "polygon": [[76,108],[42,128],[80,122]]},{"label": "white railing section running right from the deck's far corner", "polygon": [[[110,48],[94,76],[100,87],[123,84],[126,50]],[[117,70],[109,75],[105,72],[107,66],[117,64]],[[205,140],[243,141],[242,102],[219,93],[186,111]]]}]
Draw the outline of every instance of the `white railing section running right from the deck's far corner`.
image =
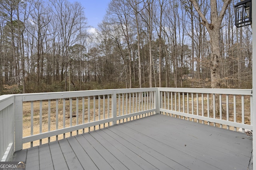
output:
[{"label": "white railing section running right from the deck's far corner", "polygon": [[248,89],[158,88],[159,111],[244,132],[252,130],[251,92]]}]

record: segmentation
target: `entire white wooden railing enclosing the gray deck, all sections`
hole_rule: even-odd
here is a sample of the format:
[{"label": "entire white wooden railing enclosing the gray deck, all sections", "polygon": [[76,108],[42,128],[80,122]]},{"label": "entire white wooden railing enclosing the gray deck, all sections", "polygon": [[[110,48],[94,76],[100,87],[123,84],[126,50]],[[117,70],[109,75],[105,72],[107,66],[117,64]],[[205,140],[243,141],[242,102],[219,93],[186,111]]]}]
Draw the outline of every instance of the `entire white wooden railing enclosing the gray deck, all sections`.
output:
[{"label": "entire white wooden railing enclosing the gray deck, all sections", "polygon": [[9,160],[14,150],[155,113],[244,132],[252,130],[251,110],[251,90],[241,89],[136,88],[4,95],[0,96],[0,158]]}]

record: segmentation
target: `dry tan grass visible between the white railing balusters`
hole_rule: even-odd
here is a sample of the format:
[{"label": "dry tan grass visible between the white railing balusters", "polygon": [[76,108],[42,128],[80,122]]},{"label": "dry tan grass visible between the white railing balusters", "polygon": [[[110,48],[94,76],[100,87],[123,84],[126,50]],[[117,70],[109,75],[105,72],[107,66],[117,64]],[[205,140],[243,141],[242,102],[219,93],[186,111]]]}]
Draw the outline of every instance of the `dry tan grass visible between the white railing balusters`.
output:
[{"label": "dry tan grass visible between the white railing balusters", "polygon": [[[227,111],[227,106],[228,106],[228,113],[229,113],[229,117],[228,120],[229,121],[234,121],[234,118],[236,119],[236,122],[238,123],[242,123],[242,97],[241,96],[236,96],[236,114],[234,114],[234,101],[233,101],[233,96],[230,95],[229,99],[228,99],[228,105],[226,104],[226,95],[222,96],[222,117],[221,119],[223,120],[227,120],[226,117],[226,111]],[[201,95],[198,96],[198,107],[197,107],[197,103],[196,103],[196,95],[194,95],[194,109],[193,109],[193,113],[192,113],[192,99],[191,99],[191,95],[189,98],[189,107],[187,107],[187,98],[185,96],[184,98],[184,110],[183,110],[183,98],[182,95],[180,96],[180,106],[179,106],[179,102],[178,102],[178,95],[176,98],[176,103],[174,102],[174,95],[172,98],[172,105],[171,105],[171,98],[169,98],[169,101],[167,101],[166,98],[166,108],[168,106],[169,103],[169,108],[171,109],[175,109],[175,105],[176,105],[176,110],[177,111],[184,111],[185,113],[188,112],[190,114],[194,114],[194,115],[204,115],[205,117],[207,117],[208,115],[208,110],[207,110],[207,96],[204,95],[204,111],[202,113],[202,98]],[[87,123],[88,122],[88,98],[85,99],[84,101],[84,119],[82,117],[82,100],[81,98],[78,100],[78,105],[76,103],[76,100],[72,100],[72,109],[71,109],[71,113],[72,116],[70,117],[70,100],[65,100],[65,107],[63,109],[64,106],[64,101],[62,100],[51,100],[50,104],[48,103],[48,101],[43,101],[42,102],[42,133],[44,132],[48,132],[48,131],[53,131],[56,129],[62,129],[65,127],[70,127],[70,119],[71,119],[71,123],[72,125],[80,125],[83,123]],[[210,98],[210,102],[211,102],[211,98]],[[94,103],[95,103],[95,107],[94,107]],[[128,106],[129,106],[129,101],[127,102]],[[40,133],[40,102],[39,101],[35,101],[33,102],[33,109],[31,109],[31,102],[24,102],[23,103],[23,137],[27,137],[31,135],[31,112],[33,110],[33,134],[39,134]],[[49,108],[48,106],[50,105],[50,113],[49,113]],[[162,101],[162,105],[164,107],[164,100]],[[128,107],[127,106],[127,107]],[[117,104],[117,108],[118,109],[118,113],[120,111],[120,114],[126,114],[126,101],[124,101],[124,105],[122,105],[122,100],[120,101],[120,105]],[[137,111],[138,111],[138,107],[137,106]],[[56,115],[56,110],[57,110],[57,115]],[[76,115],[76,111],[78,110],[78,115]],[[128,109],[129,110],[129,109]],[[140,110],[142,110],[142,106],[140,106]],[[129,113],[129,111],[127,111]],[[128,114],[127,113],[127,114]],[[50,115],[50,117],[49,117]],[[168,113],[167,113],[168,115]],[[234,117],[235,115],[235,117]],[[108,113],[108,107],[107,107],[107,99],[105,99],[105,106],[103,106],[103,99],[100,99],[100,106],[98,106],[98,99],[94,100],[90,99],[90,122],[92,121],[97,121],[100,119],[103,119],[104,117],[112,117],[112,110],[111,110],[111,99],[109,100],[109,113]],[[176,115],[173,115],[176,116]],[[179,117],[179,116],[178,116]],[[216,118],[216,119],[220,119],[220,114],[216,113],[215,117],[213,113],[210,113],[210,116],[212,118]],[[48,120],[48,118],[50,120]],[[64,119],[63,119],[64,118]],[[183,117],[180,117],[183,118]],[[185,117],[185,119],[187,119],[187,117]],[[190,121],[196,121],[199,123],[203,123],[202,120],[197,120],[197,119],[189,119]],[[126,121],[126,120],[122,120],[122,121]],[[121,122],[122,122],[121,121]],[[58,125],[56,125],[56,122],[58,122]],[[250,124],[250,96],[244,96],[244,123],[246,124]],[[218,123],[212,123],[212,122],[207,122],[204,121],[204,124],[210,124],[210,125],[215,125],[217,127],[222,126],[222,128],[229,128],[230,130],[234,130],[234,127],[227,127],[226,125],[220,125]],[[111,125],[111,123],[110,123]],[[90,130],[94,130],[94,129],[98,129],[99,127],[102,128],[104,126],[108,126],[108,124],[106,123],[105,125],[100,125],[100,126],[96,126],[96,127],[90,127]],[[81,133],[85,133],[88,132],[89,128],[86,129],[81,129],[79,131],[74,131],[72,132],[72,135],[76,135],[81,134]],[[58,135],[58,139],[62,139],[65,137],[70,137],[70,133],[65,133],[62,135]],[[50,141],[56,141],[56,137],[50,137]],[[33,142],[33,146],[39,145],[40,141],[34,141]],[[48,139],[42,139],[42,143],[48,143]],[[30,147],[30,143],[26,143],[23,145],[23,148],[28,148]]]}]

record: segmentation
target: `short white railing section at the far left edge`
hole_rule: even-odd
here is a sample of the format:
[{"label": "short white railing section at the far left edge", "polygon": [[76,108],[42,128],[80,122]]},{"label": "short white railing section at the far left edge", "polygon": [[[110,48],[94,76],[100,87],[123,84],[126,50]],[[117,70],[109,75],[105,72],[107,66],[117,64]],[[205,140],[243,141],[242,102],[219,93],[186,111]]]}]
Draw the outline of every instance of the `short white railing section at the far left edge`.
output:
[{"label": "short white railing section at the far left edge", "polygon": [[8,161],[14,152],[14,95],[0,96],[0,160]]}]

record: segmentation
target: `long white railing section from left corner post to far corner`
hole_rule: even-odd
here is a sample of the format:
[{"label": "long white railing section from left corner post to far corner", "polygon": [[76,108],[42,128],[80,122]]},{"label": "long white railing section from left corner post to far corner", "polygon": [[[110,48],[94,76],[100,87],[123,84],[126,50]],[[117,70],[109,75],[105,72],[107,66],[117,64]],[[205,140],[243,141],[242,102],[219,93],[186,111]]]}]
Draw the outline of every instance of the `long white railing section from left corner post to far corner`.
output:
[{"label": "long white railing section from left corner post to far corner", "polygon": [[15,150],[151,115],[156,112],[156,92],[141,88],[18,94],[16,114],[23,115],[23,125],[16,126],[23,131],[15,130],[15,139],[21,139]]}]

